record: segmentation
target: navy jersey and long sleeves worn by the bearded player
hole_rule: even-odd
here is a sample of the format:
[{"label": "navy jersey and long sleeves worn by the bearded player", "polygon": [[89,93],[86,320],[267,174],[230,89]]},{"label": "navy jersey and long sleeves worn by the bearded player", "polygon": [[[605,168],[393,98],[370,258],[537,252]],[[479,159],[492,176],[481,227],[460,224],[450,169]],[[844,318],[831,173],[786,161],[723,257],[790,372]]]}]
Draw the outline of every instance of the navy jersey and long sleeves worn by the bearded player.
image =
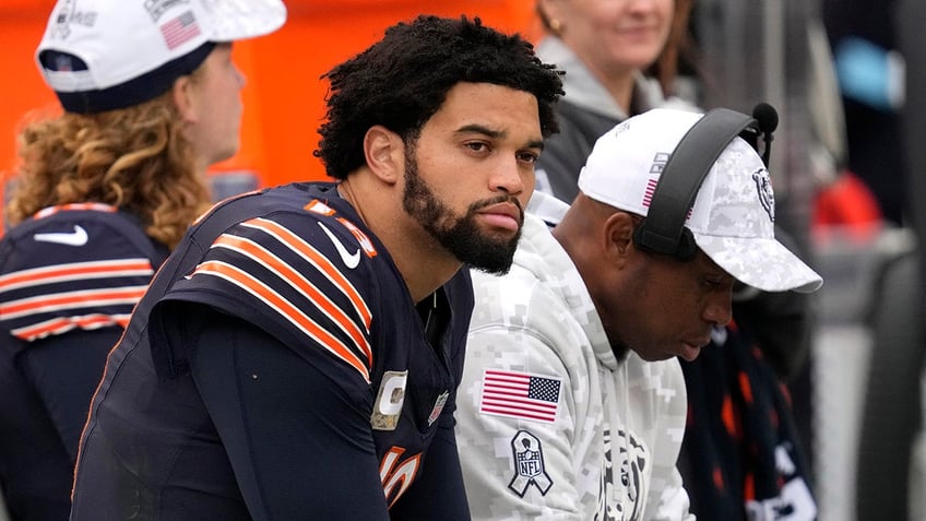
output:
[{"label": "navy jersey and long sleeves worn by the bearded player", "polygon": [[71,519],[468,519],[472,307],[461,270],[416,308],[334,185],[224,202],[109,357]]}]

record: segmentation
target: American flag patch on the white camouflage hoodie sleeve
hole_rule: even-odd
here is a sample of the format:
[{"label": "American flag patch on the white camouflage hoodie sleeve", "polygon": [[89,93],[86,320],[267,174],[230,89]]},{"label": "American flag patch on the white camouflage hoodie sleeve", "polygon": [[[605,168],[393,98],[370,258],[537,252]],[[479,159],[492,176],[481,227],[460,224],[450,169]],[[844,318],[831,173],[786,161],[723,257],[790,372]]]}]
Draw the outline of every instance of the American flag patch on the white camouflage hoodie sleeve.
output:
[{"label": "American flag patch on the white camouflage hoodie sleeve", "polygon": [[483,374],[479,412],[554,423],[561,386],[559,378],[487,369]]}]

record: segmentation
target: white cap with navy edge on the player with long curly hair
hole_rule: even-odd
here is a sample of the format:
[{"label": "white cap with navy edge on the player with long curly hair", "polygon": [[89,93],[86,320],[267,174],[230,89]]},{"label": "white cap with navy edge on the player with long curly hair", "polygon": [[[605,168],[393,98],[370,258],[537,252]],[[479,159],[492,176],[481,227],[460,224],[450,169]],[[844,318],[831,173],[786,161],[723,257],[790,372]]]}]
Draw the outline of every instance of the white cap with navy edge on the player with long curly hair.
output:
[{"label": "white cap with navy edge on the player with long curly hair", "polygon": [[99,113],[152,99],[214,44],[285,21],[281,0],[58,0],[36,61],[64,110]]}]

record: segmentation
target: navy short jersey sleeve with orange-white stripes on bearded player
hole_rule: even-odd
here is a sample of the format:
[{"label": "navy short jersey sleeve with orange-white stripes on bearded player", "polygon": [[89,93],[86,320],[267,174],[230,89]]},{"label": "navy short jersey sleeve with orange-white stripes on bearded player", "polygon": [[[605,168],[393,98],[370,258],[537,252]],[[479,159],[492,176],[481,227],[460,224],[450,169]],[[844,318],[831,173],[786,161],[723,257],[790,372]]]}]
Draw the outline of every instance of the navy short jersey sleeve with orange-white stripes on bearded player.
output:
[{"label": "navy short jersey sleeve with orange-white stripes on bearded player", "polygon": [[[205,304],[258,325],[346,381],[369,384],[371,259],[342,221],[299,217],[258,217],[230,227],[158,307],[171,300]],[[166,333],[155,328],[152,334]],[[175,364],[189,355],[177,348]]]}]

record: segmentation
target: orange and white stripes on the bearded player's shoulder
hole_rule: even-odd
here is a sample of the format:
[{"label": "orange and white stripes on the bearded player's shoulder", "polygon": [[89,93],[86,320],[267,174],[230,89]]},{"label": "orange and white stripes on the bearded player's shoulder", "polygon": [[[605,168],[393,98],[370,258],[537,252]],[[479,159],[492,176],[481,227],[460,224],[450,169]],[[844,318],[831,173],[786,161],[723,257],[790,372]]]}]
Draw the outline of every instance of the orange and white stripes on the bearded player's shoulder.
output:
[{"label": "orange and white stripes on the bearded player's shoulder", "polygon": [[323,274],[334,287],[347,297],[353,308],[353,316],[357,319],[353,319],[352,315],[332,301],[324,292],[319,289],[311,281],[299,273],[298,270],[253,240],[224,234],[213,242],[212,247],[235,251],[264,265],[281,281],[304,295],[306,297],[305,303],[314,306],[335,323],[352,340],[355,350],[349,348],[337,336],[321,327],[302,311],[299,306],[287,300],[266,283],[237,267],[221,261],[207,261],[200,264],[193,272],[193,275],[209,274],[218,276],[256,296],[314,342],[357,369],[364,380],[369,382],[369,369],[373,364],[372,350],[367,338],[371,322],[371,311],[354,284],[323,253],[278,223],[266,218],[254,218],[242,223],[242,225],[265,233],[314,267],[319,273]]}]

